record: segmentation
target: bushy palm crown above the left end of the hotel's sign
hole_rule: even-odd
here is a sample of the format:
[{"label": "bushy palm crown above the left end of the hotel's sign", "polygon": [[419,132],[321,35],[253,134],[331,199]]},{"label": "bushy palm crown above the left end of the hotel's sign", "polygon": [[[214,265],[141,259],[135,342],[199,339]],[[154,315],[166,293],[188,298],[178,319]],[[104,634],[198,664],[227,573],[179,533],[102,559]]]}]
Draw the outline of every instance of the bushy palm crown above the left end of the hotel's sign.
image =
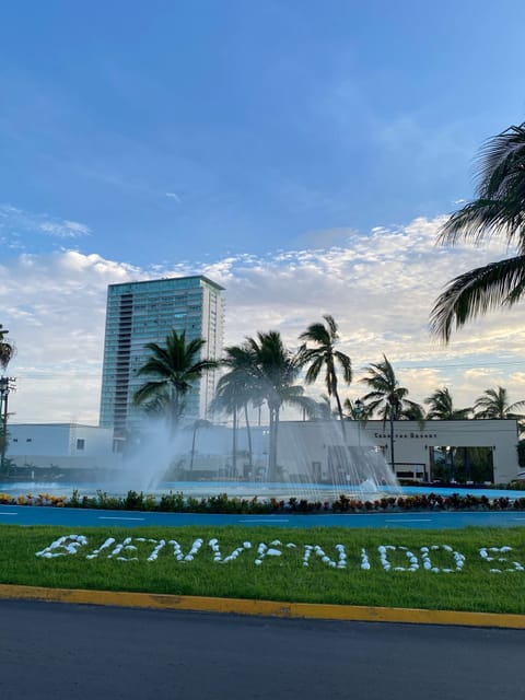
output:
[{"label": "bushy palm crown above the left end of the hotel's sign", "polygon": [[363,396],[369,417],[376,413],[383,421],[423,418],[421,406],[407,398],[408,389],[399,386],[394,368],[385,354],[381,362],[369,364],[365,370],[368,375],[360,381],[372,389]]}]

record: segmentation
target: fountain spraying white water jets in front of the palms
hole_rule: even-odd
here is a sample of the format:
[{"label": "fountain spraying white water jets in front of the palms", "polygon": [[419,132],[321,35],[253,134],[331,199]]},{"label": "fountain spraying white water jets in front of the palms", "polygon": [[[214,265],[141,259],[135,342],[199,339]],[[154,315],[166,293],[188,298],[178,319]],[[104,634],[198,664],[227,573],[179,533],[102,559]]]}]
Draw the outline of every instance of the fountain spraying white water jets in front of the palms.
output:
[{"label": "fountain spraying white water jets in front of the palms", "polygon": [[[395,476],[377,448],[362,438],[359,425],[338,421],[282,421],[278,465],[269,480],[267,428],[232,429],[200,421],[170,435],[149,423],[143,439],[124,459],[115,492],[182,491],[185,495],[331,501],[345,493],[361,500],[398,490]],[[233,448],[235,439],[235,450]],[[252,450],[249,450],[252,445]]]}]

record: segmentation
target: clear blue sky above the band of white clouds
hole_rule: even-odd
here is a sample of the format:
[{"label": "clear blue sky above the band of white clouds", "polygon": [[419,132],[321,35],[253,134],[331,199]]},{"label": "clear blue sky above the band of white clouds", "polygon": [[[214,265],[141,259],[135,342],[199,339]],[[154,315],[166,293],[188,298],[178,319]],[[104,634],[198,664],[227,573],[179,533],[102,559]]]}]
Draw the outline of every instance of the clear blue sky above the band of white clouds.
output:
[{"label": "clear blue sky above the band of white clouds", "polygon": [[51,0],[2,15],[2,199],[80,221],[77,247],[131,264],[448,212],[479,144],[525,113],[517,1]]}]

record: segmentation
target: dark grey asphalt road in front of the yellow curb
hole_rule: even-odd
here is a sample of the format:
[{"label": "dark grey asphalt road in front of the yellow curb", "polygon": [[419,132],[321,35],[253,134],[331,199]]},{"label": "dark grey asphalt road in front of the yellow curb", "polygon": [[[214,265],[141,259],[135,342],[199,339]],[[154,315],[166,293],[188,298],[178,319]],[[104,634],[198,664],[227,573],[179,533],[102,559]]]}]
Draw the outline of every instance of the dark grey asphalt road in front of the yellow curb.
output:
[{"label": "dark grey asphalt road in front of the yellow curb", "polygon": [[525,631],[0,600],[2,700],[518,700]]}]

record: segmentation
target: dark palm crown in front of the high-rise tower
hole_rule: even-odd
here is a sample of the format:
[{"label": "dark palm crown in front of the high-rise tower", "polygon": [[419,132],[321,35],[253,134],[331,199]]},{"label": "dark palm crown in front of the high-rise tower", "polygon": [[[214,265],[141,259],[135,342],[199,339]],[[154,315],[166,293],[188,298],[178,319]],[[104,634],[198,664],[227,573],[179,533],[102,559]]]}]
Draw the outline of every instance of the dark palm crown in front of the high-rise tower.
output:
[{"label": "dark palm crown in front of the high-rise tower", "polygon": [[144,406],[149,412],[163,413],[172,430],[180,420],[184,398],[195,382],[205,372],[218,366],[214,360],[201,360],[206,340],[194,338],[186,341],[186,331],[173,328],[166,336],[165,347],[149,342],[144,347],[151,352],[139,369],[139,375],[151,376],[133,394],[136,406]]}]

